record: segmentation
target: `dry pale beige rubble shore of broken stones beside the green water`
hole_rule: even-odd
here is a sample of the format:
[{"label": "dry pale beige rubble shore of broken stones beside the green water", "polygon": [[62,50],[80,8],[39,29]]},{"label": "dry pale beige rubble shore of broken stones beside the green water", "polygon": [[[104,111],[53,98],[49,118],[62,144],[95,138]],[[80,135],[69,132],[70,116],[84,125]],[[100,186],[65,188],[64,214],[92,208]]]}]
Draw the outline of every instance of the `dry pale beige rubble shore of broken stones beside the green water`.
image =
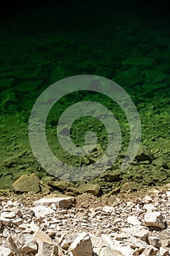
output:
[{"label": "dry pale beige rubble shore of broken stones beside the green water", "polygon": [[76,205],[76,197],[53,194],[30,208],[1,198],[0,255],[170,255],[168,189],[112,206]]}]

